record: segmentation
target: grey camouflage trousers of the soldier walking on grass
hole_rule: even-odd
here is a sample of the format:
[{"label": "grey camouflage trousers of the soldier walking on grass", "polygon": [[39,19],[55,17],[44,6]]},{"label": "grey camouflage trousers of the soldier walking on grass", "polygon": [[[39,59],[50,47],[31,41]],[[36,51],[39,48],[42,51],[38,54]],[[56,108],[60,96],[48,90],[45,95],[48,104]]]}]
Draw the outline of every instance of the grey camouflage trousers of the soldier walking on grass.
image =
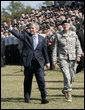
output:
[{"label": "grey camouflage trousers of the soldier walking on grass", "polygon": [[72,82],[74,81],[77,62],[75,60],[60,60],[59,61],[60,69],[64,77],[64,91],[72,91]]}]

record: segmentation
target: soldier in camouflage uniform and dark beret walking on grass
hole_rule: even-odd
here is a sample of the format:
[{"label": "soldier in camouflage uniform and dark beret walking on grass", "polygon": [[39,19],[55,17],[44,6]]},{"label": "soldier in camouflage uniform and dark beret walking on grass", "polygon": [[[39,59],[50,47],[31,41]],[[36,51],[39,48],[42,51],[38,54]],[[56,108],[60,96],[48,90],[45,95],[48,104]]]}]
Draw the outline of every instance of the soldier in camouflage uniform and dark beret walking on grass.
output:
[{"label": "soldier in camouflage uniform and dark beret walking on grass", "polygon": [[57,33],[52,61],[53,65],[56,65],[58,56],[59,67],[64,77],[64,89],[62,93],[65,95],[66,101],[72,102],[72,82],[75,78],[77,61],[80,61],[82,49],[78,36],[75,32],[70,31],[70,24],[67,21],[63,21],[62,25],[64,30]]}]

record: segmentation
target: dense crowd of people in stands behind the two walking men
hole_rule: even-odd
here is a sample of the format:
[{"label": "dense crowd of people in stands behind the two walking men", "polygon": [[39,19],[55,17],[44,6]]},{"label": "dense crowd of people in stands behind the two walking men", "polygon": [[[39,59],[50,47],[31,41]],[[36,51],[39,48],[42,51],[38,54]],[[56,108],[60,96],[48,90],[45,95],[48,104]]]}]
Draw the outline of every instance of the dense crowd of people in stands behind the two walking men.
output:
[{"label": "dense crowd of people in stands behind the two walking men", "polygon": [[[42,7],[41,11],[32,9],[31,13],[22,13],[20,19],[12,21],[12,27],[18,32],[29,30],[32,22],[38,23],[40,26],[39,33],[47,38],[47,48],[50,62],[52,63],[51,53],[54,37],[57,32],[63,30],[62,22],[68,20],[70,30],[79,34],[84,25],[84,9],[83,7]],[[83,29],[84,30],[84,29]],[[7,22],[1,25],[1,64],[20,64],[20,54],[23,44],[14,35],[8,31]],[[81,41],[83,42],[83,41]],[[54,69],[51,65],[50,69]]]}]

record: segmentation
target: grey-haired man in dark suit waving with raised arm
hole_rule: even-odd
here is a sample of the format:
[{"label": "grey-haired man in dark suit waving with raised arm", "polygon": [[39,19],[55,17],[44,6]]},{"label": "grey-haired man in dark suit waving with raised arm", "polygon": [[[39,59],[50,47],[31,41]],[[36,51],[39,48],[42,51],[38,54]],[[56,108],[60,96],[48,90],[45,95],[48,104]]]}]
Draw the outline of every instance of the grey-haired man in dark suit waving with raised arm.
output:
[{"label": "grey-haired man in dark suit waving with raised arm", "polygon": [[10,32],[15,37],[23,41],[21,59],[22,64],[24,65],[25,102],[30,101],[33,73],[35,73],[38,87],[41,92],[41,103],[48,103],[49,101],[46,99],[47,92],[45,90],[43,55],[45,57],[46,67],[48,69],[50,68],[50,62],[47,54],[45,38],[38,34],[38,24],[31,24],[30,33],[27,31],[24,31],[23,33],[18,33],[11,27],[11,21],[9,19],[8,26],[10,28]]}]

